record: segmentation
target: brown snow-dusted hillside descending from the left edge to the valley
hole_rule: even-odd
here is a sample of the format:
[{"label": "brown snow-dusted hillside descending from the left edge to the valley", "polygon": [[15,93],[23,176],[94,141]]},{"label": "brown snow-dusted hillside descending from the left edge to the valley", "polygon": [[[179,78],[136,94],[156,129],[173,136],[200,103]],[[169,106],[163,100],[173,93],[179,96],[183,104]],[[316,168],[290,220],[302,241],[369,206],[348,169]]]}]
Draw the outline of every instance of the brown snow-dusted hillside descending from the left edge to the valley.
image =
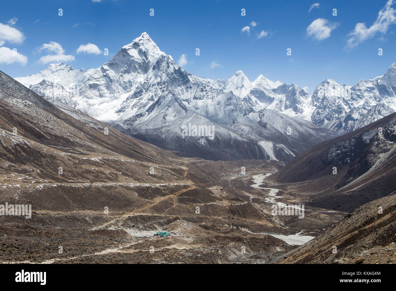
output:
[{"label": "brown snow-dusted hillside descending from the left edge to the valley", "polygon": [[[0,72],[2,180],[158,184],[188,181],[183,159],[89,116],[83,117],[94,128]],[[14,127],[17,134],[12,132]],[[108,135],[104,134],[104,127],[109,128]],[[151,166],[155,175],[148,175]],[[63,167],[62,175],[58,167]]]}]

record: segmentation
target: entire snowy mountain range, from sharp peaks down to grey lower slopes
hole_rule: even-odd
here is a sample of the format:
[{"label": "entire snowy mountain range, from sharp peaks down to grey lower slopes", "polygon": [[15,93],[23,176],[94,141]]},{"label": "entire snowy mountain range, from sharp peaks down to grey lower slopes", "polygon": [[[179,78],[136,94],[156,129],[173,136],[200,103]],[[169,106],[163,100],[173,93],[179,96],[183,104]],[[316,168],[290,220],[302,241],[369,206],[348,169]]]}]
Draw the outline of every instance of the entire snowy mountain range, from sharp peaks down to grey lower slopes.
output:
[{"label": "entire snowy mountain range, from sharp peaks down to grey lower slopes", "polygon": [[[97,69],[51,64],[15,79],[53,103],[179,156],[290,162],[320,141],[393,113],[395,70],[396,63],[355,86],[327,79],[312,94],[263,75],[250,82],[242,71],[210,80],[183,70],[143,33]],[[183,134],[188,126],[213,128],[214,136]]]}]

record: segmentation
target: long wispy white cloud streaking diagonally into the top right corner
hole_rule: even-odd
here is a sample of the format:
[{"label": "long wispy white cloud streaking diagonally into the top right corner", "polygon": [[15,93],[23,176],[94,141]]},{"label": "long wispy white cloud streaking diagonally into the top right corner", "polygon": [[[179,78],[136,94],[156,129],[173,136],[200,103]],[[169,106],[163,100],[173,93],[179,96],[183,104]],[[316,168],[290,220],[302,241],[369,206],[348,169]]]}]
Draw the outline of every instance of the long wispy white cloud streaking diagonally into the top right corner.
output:
[{"label": "long wispy white cloud streaking diagonally into the top right corner", "polygon": [[346,48],[352,49],[356,47],[360,42],[373,38],[377,32],[386,34],[389,27],[396,23],[396,10],[392,8],[393,4],[394,0],[388,0],[385,7],[379,11],[373,25],[369,28],[366,27],[365,23],[356,23],[354,31],[348,34],[350,38],[346,43]]}]

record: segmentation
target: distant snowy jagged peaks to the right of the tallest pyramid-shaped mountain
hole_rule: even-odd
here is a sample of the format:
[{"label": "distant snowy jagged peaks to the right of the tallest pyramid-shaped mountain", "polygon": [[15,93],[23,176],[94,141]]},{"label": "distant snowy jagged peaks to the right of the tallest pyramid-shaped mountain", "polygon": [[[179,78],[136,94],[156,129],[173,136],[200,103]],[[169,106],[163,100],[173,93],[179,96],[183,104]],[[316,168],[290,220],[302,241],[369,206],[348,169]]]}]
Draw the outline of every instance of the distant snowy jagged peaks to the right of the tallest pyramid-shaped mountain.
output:
[{"label": "distant snowy jagged peaks to the right of the tallest pyramid-shaped mountain", "polygon": [[396,63],[384,76],[360,80],[355,86],[326,79],[312,94],[295,84],[272,82],[262,75],[250,82],[242,71],[211,84],[231,91],[255,110],[273,109],[344,134],[395,112],[395,76]]}]

